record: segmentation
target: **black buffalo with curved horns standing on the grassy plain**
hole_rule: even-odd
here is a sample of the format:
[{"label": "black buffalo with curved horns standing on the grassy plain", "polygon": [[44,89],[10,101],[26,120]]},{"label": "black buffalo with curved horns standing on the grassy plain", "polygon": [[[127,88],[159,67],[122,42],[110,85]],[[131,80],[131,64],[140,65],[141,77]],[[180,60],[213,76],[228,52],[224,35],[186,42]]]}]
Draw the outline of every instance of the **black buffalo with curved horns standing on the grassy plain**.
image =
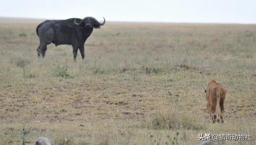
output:
[{"label": "black buffalo with curved horns standing on the grassy plain", "polygon": [[54,43],[57,45],[72,45],[74,60],[76,60],[77,51],[80,50],[82,59],[84,59],[84,43],[91,35],[93,28],[100,28],[105,24],[98,22],[93,17],[86,17],[83,20],[71,18],[68,20],[46,20],[36,27],[36,33],[40,39],[40,45],[37,54],[44,57],[47,45]]}]

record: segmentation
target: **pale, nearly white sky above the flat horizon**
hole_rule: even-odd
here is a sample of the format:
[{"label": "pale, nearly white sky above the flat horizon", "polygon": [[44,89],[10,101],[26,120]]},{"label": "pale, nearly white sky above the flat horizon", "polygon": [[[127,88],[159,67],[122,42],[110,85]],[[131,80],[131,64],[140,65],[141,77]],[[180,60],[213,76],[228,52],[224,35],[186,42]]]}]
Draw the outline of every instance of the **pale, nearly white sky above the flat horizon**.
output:
[{"label": "pale, nearly white sky above the flat horizon", "polygon": [[0,17],[256,24],[256,0],[0,0]]}]

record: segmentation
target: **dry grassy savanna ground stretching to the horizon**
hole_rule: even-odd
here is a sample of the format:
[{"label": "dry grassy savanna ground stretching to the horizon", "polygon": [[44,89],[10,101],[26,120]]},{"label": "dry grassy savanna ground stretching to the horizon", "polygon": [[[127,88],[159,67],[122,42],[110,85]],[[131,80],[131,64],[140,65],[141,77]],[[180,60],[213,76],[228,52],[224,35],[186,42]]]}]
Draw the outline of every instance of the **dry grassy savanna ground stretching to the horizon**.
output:
[{"label": "dry grassy savanna ground stretching to the horizon", "polygon": [[[256,25],[106,22],[73,61],[70,45],[38,58],[43,20],[0,19],[0,144],[197,144],[199,133],[250,134],[256,144]],[[227,90],[225,124],[205,92]],[[174,142],[173,142],[174,141]]]}]

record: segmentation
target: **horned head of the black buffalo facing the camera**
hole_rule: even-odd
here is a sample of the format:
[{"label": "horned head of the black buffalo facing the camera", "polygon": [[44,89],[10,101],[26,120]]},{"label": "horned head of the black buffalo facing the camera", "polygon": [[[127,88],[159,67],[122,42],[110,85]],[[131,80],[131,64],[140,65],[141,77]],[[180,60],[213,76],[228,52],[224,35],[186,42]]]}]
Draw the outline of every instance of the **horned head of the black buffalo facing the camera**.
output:
[{"label": "horned head of the black buffalo facing the camera", "polygon": [[77,23],[76,19],[74,20],[74,24],[79,25],[80,27],[86,27],[86,28],[100,28],[101,25],[104,25],[106,20],[103,17],[104,22],[100,23],[93,17],[85,17],[81,22]]}]

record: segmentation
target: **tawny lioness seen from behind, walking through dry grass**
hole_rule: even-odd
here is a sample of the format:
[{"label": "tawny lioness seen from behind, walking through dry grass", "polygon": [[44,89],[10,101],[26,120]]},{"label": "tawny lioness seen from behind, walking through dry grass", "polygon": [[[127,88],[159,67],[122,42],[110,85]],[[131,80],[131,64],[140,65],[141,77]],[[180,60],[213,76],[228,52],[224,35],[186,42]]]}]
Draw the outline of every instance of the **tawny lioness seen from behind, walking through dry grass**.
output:
[{"label": "tawny lioness seen from behind, walking through dry grass", "polygon": [[212,119],[212,123],[216,123],[218,115],[220,115],[221,123],[224,121],[224,100],[226,97],[226,89],[215,80],[211,80],[207,86],[206,92],[206,107]]}]

